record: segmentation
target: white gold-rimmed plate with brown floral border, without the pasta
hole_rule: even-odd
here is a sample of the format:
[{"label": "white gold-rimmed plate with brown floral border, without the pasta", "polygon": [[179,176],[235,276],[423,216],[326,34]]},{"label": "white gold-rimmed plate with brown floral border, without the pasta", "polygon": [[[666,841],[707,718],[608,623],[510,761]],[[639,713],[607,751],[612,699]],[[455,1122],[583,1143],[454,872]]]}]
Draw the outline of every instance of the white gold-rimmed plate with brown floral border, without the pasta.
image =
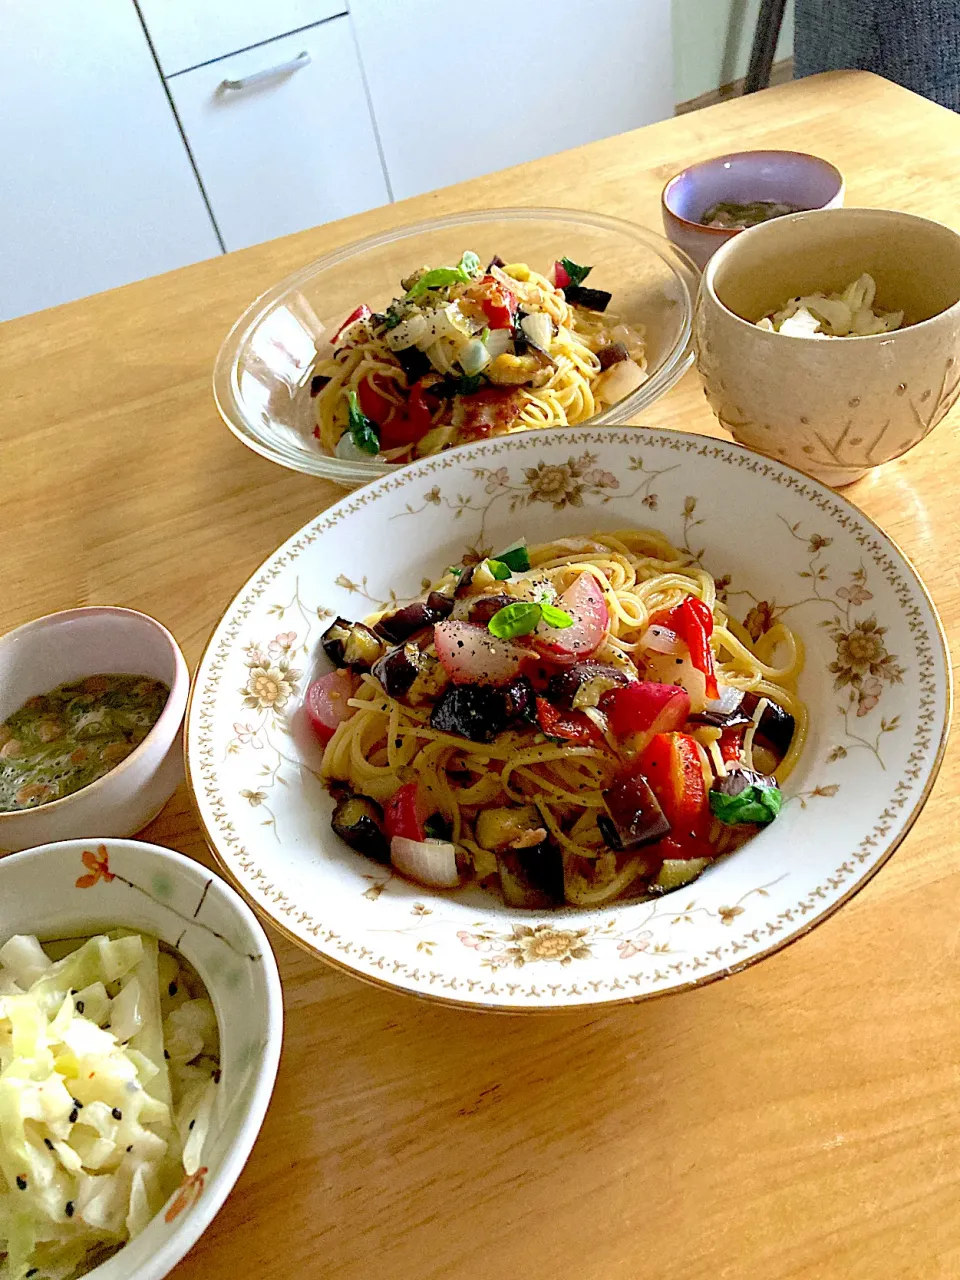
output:
[{"label": "white gold-rimmed plate with brown floral border, without the pasta", "polygon": [[[721,579],[753,631],[806,645],[809,744],[777,822],[689,890],[534,915],[430,892],[332,833],[297,714],[333,614],[410,598],[465,552],[652,525]],[[558,430],[466,445],[343,498],[227,609],[197,671],[188,776],[207,838],[284,933],[381,986],[509,1010],[636,1000],[783,946],[882,865],[950,723],[942,628],[913,567],[851,503],[748,449],[676,431]]]}]

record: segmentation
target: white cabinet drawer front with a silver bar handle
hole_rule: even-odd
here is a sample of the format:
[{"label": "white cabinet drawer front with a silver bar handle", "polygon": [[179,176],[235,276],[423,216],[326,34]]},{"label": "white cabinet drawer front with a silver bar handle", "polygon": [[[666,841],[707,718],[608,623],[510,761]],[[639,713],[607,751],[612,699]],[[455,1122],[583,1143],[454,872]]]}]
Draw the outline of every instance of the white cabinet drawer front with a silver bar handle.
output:
[{"label": "white cabinet drawer front with a silver bar handle", "polygon": [[168,84],[228,250],[389,200],[349,18]]}]

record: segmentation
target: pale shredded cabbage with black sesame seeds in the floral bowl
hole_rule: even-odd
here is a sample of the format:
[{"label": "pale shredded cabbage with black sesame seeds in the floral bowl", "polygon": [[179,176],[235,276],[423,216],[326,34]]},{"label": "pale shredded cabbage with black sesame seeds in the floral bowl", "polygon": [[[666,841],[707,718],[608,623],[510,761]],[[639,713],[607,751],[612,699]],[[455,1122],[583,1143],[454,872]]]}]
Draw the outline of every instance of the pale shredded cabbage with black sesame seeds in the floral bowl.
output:
[{"label": "pale shredded cabbage with black sesame seeds in the floral bowl", "polygon": [[[55,959],[56,956],[60,959]],[[219,1080],[214,1006],[156,938],[0,947],[0,1277],[69,1280],[196,1172]]]}]

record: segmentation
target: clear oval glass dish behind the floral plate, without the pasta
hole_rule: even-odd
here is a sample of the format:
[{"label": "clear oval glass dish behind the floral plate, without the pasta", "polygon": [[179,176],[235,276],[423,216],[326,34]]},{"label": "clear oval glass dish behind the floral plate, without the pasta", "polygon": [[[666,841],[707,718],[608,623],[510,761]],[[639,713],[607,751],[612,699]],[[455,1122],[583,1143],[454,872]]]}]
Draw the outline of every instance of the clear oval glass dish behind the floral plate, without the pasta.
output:
[{"label": "clear oval glass dish behind the floral plate, without the pasta", "polygon": [[[323,453],[314,438],[311,370],[326,340],[358,303],[383,310],[399,280],[422,264],[457,262],[465,250],[538,270],[558,257],[589,262],[612,311],[643,325],[648,380],[577,426],[621,426],[659,399],[694,360],[699,273],[669,241],[643,227],[571,209],[492,209],[413,223],[346,244],[280,280],[243,312],[220,347],[214,397],[227,426],[256,453],[346,488],[393,470],[378,460]],[[594,280],[591,279],[591,284]]]}]

